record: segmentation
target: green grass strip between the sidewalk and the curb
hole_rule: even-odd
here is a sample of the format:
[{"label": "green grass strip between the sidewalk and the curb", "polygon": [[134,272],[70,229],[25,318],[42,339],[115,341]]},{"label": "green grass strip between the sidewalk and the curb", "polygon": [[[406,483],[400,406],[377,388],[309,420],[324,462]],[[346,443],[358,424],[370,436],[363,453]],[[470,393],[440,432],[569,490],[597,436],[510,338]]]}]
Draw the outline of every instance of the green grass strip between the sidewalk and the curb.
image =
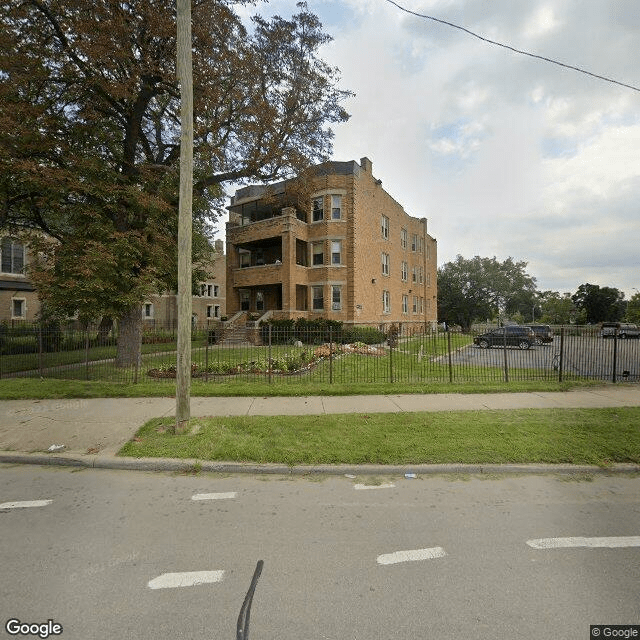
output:
[{"label": "green grass strip between the sidewalk and the curb", "polygon": [[216,417],[145,424],[120,455],[295,464],[640,463],[640,408]]}]

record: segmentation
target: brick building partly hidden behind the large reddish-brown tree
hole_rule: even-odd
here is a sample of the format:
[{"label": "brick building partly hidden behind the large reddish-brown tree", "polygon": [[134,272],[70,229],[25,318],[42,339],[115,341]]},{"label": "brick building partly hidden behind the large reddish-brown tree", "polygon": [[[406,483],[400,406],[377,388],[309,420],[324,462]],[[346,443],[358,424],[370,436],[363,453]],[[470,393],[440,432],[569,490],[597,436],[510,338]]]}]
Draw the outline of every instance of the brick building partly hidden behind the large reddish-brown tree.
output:
[{"label": "brick building partly hidden behind the large reddish-brown tree", "polygon": [[[215,257],[206,270],[208,277],[193,296],[193,316],[197,324],[226,314],[225,256],[222,240],[215,242]],[[0,239],[0,322],[35,322],[40,313],[38,293],[26,275],[29,248],[18,239]],[[177,296],[167,292],[149,296],[142,304],[145,326],[177,325]]]}]

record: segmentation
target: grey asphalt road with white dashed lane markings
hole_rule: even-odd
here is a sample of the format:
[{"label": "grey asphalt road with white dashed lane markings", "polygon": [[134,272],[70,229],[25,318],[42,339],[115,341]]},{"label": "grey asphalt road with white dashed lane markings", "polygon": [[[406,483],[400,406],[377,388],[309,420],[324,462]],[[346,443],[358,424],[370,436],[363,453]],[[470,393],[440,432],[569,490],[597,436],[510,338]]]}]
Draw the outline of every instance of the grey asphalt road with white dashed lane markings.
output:
[{"label": "grey asphalt road with white dashed lane markings", "polygon": [[252,640],[640,623],[640,478],[371,481],[0,466],[3,628],[231,640],[259,559]]}]

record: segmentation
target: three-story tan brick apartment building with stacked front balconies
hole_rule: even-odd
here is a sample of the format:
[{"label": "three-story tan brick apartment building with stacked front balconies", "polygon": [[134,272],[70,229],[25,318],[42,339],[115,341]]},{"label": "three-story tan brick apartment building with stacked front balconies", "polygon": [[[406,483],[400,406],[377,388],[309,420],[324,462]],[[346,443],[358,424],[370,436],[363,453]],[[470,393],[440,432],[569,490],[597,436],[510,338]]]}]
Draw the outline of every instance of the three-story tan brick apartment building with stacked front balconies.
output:
[{"label": "three-story tan brick apartment building with stacked front balconies", "polygon": [[318,165],[300,185],[245,187],[231,199],[227,315],[435,323],[436,241],[371,161]]}]

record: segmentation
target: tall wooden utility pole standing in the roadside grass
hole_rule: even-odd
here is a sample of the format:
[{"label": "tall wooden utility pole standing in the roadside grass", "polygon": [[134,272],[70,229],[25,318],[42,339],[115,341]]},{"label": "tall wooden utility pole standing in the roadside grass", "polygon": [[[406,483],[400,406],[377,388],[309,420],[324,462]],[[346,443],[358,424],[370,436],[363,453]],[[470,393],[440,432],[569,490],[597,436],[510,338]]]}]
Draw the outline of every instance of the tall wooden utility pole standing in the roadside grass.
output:
[{"label": "tall wooden utility pole standing in the roadside grass", "polygon": [[176,425],[182,433],[191,417],[191,233],[193,199],[193,69],[191,0],[177,0],[176,71],[180,85],[180,202],[178,206],[178,354]]}]

